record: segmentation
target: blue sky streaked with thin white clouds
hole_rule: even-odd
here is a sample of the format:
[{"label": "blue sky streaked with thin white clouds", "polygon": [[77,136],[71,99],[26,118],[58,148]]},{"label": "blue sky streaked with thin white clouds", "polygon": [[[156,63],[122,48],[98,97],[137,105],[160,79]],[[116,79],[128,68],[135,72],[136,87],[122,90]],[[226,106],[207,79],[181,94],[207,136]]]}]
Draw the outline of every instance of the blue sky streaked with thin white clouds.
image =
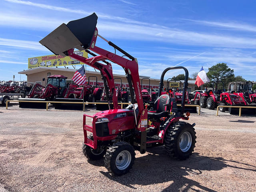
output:
[{"label": "blue sky streaked with thin white clouds", "polygon": [[[255,81],[255,7],[252,0],[1,0],[0,80],[13,74],[26,80],[18,72],[27,69],[28,58],[52,54],[38,41],[95,12],[99,34],[136,57],[140,75],[160,78],[170,66],[185,66],[190,74],[203,66],[207,72],[224,62],[235,75]],[[100,38],[96,45],[114,51]],[[124,74],[116,64],[113,72]]]}]

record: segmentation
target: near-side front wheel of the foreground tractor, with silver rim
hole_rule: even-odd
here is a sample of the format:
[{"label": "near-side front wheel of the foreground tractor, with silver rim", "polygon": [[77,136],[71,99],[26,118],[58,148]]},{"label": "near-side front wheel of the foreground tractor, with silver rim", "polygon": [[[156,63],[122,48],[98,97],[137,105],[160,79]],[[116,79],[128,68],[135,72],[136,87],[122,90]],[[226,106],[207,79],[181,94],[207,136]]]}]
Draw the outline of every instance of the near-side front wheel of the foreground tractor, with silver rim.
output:
[{"label": "near-side front wheel of the foreground tractor, with silver rim", "polygon": [[107,170],[115,175],[129,172],[135,160],[134,148],[127,142],[114,143],[106,152],[104,162]]}]

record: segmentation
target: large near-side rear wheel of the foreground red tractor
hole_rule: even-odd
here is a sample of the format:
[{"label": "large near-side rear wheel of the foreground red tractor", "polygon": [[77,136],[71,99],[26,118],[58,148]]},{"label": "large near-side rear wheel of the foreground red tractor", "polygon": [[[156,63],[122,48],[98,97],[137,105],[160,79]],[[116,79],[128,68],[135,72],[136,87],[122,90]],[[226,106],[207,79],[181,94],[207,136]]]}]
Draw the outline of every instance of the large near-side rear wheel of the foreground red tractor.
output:
[{"label": "large near-side rear wheel of the foreground red tractor", "polygon": [[175,122],[167,129],[164,136],[164,145],[167,153],[180,160],[185,160],[192,155],[195,143],[195,129],[187,122]]}]

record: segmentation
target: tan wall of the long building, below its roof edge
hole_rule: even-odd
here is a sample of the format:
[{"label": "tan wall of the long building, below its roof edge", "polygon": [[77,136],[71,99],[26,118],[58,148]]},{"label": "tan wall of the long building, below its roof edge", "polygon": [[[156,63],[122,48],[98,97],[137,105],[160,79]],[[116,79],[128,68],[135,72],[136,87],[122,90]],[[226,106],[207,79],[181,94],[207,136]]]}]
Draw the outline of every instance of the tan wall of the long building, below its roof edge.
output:
[{"label": "tan wall of the long building, below its roof edge", "polygon": [[[74,75],[74,72],[65,71],[65,70],[50,70],[50,69],[46,70],[46,71],[34,73],[34,74],[28,74],[27,75],[28,86],[31,85],[31,83],[29,83],[29,82],[32,82],[32,83],[42,82],[42,85],[45,86],[48,73],[50,73],[50,75],[64,75],[64,76],[68,77],[68,79],[71,79]],[[87,81],[88,81],[89,76],[96,76],[98,78],[98,85],[103,86],[103,80],[102,80],[99,72],[86,71]],[[42,81],[43,78],[45,78],[44,82]],[[114,78],[121,78],[124,86],[128,87],[128,82],[127,82],[127,79],[125,76],[114,75]],[[95,77],[90,78],[90,82],[93,82],[94,85],[96,85],[96,78]],[[115,82],[116,82],[116,84],[118,84],[121,81],[120,81],[120,79],[116,79]],[[160,80],[150,79],[150,86],[153,88],[158,88],[159,82],[160,82]],[[140,83],[141,83],[141,79],[140,79]],[[166,88],[166,86],[167,86],[167,82],[165,80],[164,88]],[[182,86],[183,86],[183,83],[182,83]],[[142,80],[142,87],[148,87],[148,80],[146,80],[146,79]],[[189,83],[188,87],[191,88],[191,91],[195,90],[194,84]]]}]

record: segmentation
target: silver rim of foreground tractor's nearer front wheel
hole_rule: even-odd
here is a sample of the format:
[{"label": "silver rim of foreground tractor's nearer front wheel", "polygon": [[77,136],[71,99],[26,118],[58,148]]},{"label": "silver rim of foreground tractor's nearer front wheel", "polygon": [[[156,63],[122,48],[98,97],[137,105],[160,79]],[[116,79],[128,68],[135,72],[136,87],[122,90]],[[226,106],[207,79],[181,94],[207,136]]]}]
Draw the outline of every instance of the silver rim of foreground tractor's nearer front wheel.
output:
[{"label": "silver rim of foreground tractor's nearer front wheel", "polygon": [[119,170],[125,170],[128,168],[132,161],[132,155],[129,151],[124,150],[121,151],[117,156],[116,156],[116,168]]}]

